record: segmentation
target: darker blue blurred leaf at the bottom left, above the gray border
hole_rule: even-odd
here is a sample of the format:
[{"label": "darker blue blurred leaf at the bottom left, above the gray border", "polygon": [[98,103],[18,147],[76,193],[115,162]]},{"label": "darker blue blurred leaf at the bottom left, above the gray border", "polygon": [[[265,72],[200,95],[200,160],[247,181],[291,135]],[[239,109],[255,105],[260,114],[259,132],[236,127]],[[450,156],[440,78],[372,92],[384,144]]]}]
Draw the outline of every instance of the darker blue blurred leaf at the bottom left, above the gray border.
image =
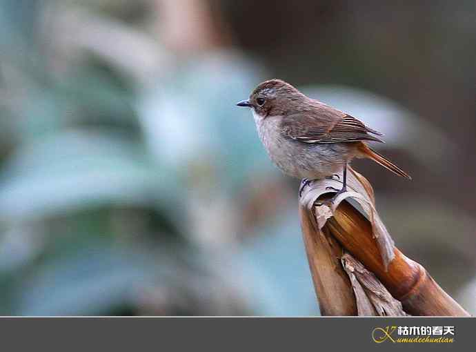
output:
[{"label": "darker blue blurred leaf at the bottom left, above the gray border", "polygon": [[100,242],[41,266],[19,286],[18,315],[95,315],[132,302],[154,266]]}]

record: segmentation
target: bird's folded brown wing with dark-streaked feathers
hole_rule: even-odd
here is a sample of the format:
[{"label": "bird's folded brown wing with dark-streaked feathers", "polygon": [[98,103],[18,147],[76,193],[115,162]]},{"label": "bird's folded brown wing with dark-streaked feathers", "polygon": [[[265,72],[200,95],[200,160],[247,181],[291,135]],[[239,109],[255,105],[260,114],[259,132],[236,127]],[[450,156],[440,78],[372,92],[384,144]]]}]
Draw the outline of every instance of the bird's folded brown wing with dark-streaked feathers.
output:
[{"label": "bird's folded brown wing with dark-streaked feathers", "polygon": [[288,115],[281,120],[281,133],[285,137],[304,143],[338,143],[346,141],[384,141],[375,135],[382,134],[368,128],[350,115],[334,110],[332,114],[316,117],[312,113]]}]

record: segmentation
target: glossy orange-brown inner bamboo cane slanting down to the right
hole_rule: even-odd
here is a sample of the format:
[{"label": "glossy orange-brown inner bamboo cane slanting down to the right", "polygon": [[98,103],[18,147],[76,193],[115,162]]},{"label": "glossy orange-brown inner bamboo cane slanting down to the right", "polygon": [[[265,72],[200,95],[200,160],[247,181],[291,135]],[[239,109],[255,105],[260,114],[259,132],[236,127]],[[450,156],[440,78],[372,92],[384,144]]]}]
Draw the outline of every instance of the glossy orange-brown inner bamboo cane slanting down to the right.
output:
[{"label": "glossy orange-brown inner bamboo cane slanting down to the right", "polygon": [[470,316],[422,265],[410,260],[397,248],[394,250],[395,258],[385,271],[370,222],[348,202],[341,202],[334,217],[324,227],[328,227],[337,241],[379,278],[393,297],[401,302],[406,313]]}]

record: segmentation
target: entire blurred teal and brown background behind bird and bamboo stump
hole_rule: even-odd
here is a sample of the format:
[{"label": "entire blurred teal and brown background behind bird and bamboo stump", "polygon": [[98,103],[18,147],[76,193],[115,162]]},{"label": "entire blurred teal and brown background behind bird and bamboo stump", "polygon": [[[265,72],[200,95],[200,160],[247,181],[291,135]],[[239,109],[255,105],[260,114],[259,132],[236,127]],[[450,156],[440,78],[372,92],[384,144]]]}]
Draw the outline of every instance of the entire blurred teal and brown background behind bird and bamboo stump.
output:
[{"label": "entire blurred teal and brown background behind bird and bamboo stump", "polygon": [[251,114],[286,79],[386,134],[406,255],[476,314],[475,1],[0,1],[0,315],[319,315]]}]

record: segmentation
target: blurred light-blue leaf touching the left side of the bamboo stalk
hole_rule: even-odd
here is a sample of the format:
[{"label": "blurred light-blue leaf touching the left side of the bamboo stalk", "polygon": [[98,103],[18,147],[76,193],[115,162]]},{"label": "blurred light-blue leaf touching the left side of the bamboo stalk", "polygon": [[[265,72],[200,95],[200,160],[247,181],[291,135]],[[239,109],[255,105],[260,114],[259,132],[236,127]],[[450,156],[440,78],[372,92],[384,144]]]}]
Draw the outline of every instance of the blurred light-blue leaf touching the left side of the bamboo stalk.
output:
[{"label": "blurred light-blue leaf touching the left side of the bamboo stalk", "polygon": [[239,267],[257,315],[319,315],[295,210],[247,242]]}]

